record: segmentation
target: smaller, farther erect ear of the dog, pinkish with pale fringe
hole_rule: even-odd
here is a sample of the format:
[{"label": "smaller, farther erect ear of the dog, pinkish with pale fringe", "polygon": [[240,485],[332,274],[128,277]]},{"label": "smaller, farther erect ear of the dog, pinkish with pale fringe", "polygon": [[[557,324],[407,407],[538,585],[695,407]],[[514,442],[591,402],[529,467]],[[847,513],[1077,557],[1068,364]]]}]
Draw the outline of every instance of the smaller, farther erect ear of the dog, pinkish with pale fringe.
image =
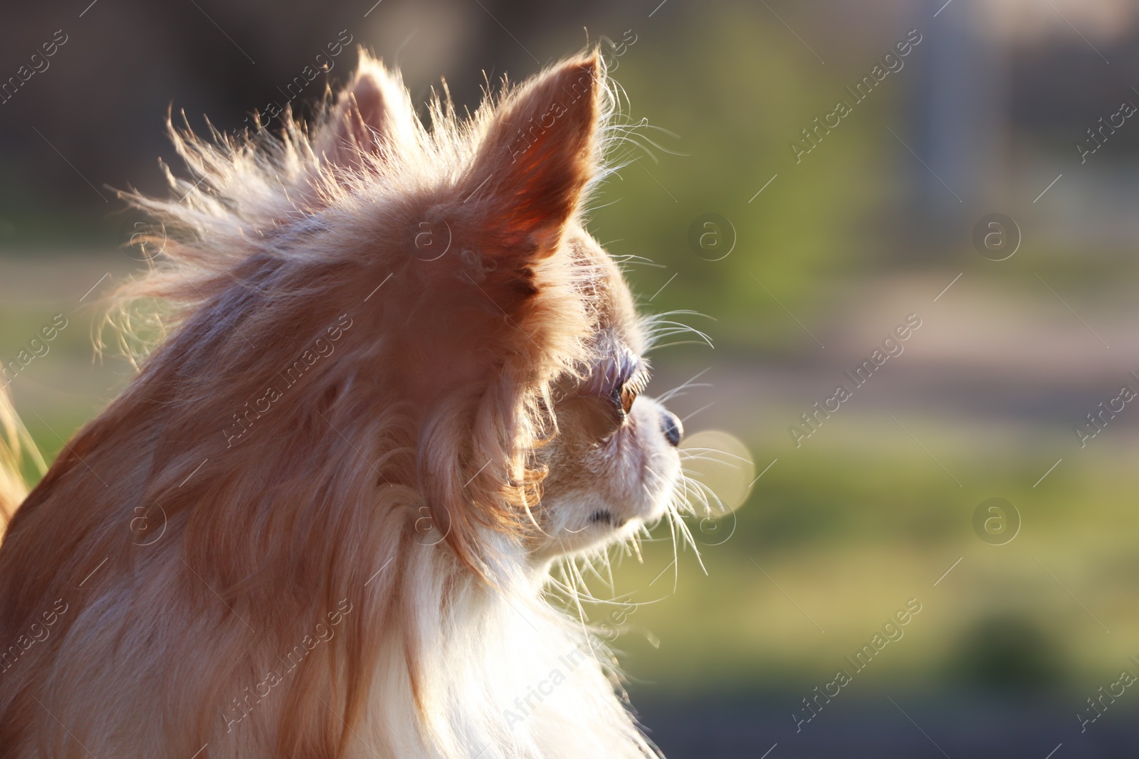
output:
[{"label": "smaller, farther erect ear of the dog, pinkish with pale fringe", "polygon": [[360,51],[360,66],[341,91],[314,141],[317,157],[355,167],[364,154],[398,150],[415,140],[415,108],[399,73]]}]

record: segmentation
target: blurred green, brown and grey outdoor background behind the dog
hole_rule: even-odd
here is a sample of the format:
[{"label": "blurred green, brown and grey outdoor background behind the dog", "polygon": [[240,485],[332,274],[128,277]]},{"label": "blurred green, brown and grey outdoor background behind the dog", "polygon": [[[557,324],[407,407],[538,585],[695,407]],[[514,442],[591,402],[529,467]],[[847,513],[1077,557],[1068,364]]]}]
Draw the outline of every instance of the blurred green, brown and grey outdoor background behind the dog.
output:
[{"label": "blurred green, brown and grey outdoor background behind the dog", "polygon": [[647,310],[700,314],[674,319],[715,347],[673,338],[650,391],[695,377],[671,405],[759,476],[690,520],[699,558],[662,526],[612,586],[587,576],[639,604],[614,646],[650,736],[678,759],[1136,756],[1134,2],[374,2],[0,11],[0,361],[58,328],[8,378],[49,461],[129,381],[92,324],[142,265],[114,190],[181,172],[167,109],[277,127],[357,46],[420,107],[445,80],[473,108],[600,40],[653,145],[617,147],[590,228]]}]

